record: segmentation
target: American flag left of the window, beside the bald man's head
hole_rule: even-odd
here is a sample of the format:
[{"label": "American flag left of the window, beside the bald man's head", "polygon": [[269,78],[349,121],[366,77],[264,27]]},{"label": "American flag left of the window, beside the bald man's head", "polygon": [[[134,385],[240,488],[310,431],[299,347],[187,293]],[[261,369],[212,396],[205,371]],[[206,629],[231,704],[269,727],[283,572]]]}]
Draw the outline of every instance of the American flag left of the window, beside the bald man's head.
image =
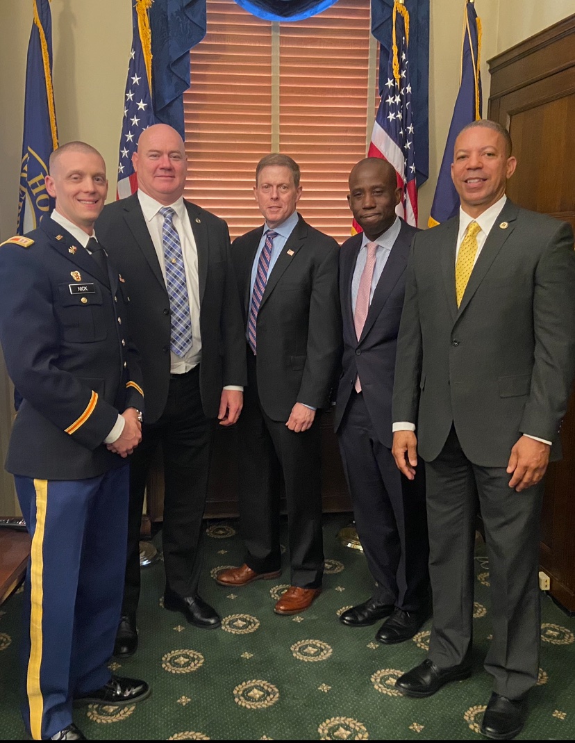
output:
[{"label": "American flag left of the window, beside the bald man's head", "polygon": [[[133,39],[128,62],[124,98],[122,136],[119,143],[118,186],[116,198],[126,198],[137,192],[138,178],[132,165],[132,155],[137,148],[139,135],[155,122],[150,92],[150,80],[146,71],[145,56],[138,23],[138,0],[132,7]],[[140,13],[142,10],[140,9]],[[149,42],[148,42],[149,45]],[[148,51],[149,58],[149,51]]]}]

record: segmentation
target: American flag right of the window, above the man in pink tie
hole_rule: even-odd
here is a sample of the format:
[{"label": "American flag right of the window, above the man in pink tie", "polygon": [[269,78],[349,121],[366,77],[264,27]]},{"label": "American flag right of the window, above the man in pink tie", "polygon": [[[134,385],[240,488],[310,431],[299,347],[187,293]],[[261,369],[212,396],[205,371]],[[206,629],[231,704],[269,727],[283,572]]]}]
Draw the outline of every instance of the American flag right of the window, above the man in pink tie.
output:
[{"label": "American flag right of the window, above the man in pink tie", "polygon": [[[406,19],[409,27],[407,10],[395,0],[393,8],[395,49],[392,45],[387,62],[387,82],[382,85],[381,103],[375,115],[372,140],[367,154],[370,158],[389,160],[395,168],[398,186],[403,190],[403,198],[396,207],[396,212],[407,221],[407,224],[417,227],[412,89],[407,58]],[[358,229],[355,224],[354,227]]]}]

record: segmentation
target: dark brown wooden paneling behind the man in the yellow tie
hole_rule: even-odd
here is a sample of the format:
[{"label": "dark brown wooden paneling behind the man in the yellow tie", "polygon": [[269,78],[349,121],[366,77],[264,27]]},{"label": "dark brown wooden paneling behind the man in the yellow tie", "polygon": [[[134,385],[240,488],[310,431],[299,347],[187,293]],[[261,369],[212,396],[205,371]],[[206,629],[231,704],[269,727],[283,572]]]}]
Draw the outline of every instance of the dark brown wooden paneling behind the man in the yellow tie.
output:
[{"label": "dark brown wooden paneling behind the man in the yellow tie", "polygon": [[[575,229],[575,14],[489,60],[489,118],[506,126],[517,169],[507,195]],[[574,328],[575,332],[575,328]],[[562,425],[563,459],[551,464],[541,565],[551,594],[575,611],[575,397]]]}]

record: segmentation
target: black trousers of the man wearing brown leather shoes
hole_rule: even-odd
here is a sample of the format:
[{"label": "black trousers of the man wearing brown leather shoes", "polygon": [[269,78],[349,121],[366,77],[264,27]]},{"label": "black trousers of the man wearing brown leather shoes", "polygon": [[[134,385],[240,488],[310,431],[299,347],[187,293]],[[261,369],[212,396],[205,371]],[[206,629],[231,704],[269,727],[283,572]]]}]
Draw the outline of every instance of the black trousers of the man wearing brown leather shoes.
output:
[{"label": "black trousers of the man wearing brown leather shoes", "polygon": [[319,416],[295,433],[272,421],[257,396],[255,357],[248,348],[248,386],[238,422],[240,529],[246,564],[257,573],[280,569],[280,476],[286,488],[291,583],[318,588],[323,576]]}]

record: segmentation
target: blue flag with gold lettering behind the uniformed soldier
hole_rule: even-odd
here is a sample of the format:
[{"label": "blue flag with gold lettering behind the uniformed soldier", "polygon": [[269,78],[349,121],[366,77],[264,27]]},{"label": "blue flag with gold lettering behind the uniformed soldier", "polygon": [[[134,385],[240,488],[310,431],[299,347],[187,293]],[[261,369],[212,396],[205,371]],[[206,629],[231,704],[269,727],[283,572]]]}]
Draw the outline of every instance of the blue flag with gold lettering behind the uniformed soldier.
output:
[{"label": "blue flag with gold lettering behind the uniformed soldier", "polygon": [[38,227],[53,209],[46,190],[48,158],[58,146],[52,88],[52,16],[49,0],[33,0],[34,21],[26,67],[24,137],[18,201],[19,235]]}]

